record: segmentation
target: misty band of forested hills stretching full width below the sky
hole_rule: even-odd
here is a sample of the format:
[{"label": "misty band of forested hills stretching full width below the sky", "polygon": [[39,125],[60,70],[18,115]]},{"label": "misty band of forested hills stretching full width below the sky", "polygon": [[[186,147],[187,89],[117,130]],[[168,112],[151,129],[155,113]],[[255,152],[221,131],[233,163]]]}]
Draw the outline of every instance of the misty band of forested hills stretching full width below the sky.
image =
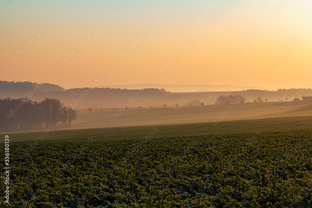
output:
[{"label": "misty band of forested hills stretching full width below the sky", "polygon": [[[39,88],[39,89],[38,89]],[[190,89],[191,90],[191,89]],[[244,93],[245,92],[245,93]],[[243,95],[246,102],[253,102],[261,97],[268,102],[302,100],[303,96],[312,96],[312,89],[278,89],[273,91],[249,89],[246,91],[227,92],[196,92],[171,93],[165,89],[115,89],[115,88],[75,88],[64,90],[58,85],[37,84],[31,82],[7,82],[0,81],[0,99],[10,97],[12,99],[27,98],[33,101],[42,101],[45,98],[59,99],[66,106],[77,108],[118,108],[124,105],[129,107],[159,107],[167,104],[168,107],[176,104],[189,106],[214,104],[219,96]]]}]

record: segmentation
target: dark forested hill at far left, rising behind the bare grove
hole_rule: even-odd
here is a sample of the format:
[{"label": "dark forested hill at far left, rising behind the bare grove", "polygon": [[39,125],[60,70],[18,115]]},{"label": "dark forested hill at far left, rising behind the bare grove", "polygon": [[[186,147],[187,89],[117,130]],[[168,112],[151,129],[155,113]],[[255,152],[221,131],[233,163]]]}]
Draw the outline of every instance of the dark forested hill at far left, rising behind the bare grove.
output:
[{"label": "dark forested hill at far left, rising behind the bare grove", "polygon": [[0,98],[21,98],[25,94],[34,90],[39,92],[65,91],[64,88],[49,83],[32,83],[32,82],[8,82],[0,80]]}]

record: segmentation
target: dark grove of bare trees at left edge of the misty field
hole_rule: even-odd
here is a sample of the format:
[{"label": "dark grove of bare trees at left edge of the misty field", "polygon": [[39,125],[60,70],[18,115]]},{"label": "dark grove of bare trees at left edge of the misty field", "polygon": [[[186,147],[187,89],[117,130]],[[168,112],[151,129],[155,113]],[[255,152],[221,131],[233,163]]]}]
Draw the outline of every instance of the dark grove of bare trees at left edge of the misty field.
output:
[{"label": "dark grove of bare trees at left edge of the misty field", "polygon": [[27,98],[0,99],[0,129],[3,132],[69,127],[76,117],[75,110],[55,98],[45,98],[41,102]]}]

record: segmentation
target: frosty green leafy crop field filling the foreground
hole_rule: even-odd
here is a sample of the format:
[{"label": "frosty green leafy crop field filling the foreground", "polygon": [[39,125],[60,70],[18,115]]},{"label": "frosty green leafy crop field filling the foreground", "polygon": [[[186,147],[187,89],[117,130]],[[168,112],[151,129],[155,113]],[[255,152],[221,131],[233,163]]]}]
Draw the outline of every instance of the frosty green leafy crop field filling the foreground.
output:
[{"label": "frosty green leafy crop field filling the foreground", "polygon": [[311,127],[302,116],[11,133],[0,206],[311,207]]}]

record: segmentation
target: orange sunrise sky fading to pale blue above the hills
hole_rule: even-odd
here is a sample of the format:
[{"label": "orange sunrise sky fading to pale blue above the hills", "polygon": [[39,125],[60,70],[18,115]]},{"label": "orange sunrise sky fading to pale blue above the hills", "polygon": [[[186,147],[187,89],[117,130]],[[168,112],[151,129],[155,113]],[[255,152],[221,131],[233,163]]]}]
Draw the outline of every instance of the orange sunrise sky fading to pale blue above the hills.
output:
[{"label": "orange sunrise sky fading to pale blue above the hills", "polygon": [[[0,1],[0,80],[301,88],[312,0]],[[235,90],[235,89],[233,89]]]}]

